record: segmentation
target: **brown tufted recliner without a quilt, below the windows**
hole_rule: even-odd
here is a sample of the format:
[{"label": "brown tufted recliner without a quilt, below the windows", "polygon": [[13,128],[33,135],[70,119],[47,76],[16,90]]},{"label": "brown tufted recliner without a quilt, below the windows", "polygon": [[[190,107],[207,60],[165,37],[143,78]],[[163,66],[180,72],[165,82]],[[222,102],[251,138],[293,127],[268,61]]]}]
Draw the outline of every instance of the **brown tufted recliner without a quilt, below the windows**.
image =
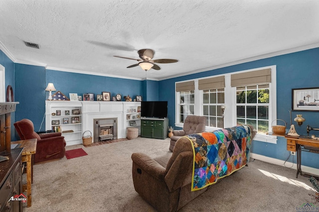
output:
[{"label": "brown tufted recliner without a quilt, below the windows", "polygon": [[198,115],[187,115],[184,121],[183,129],[173,130],[173,136],[170,137],[169,151],[173,151],[176,141],[184,136],[205,131],[206,117]]}]

